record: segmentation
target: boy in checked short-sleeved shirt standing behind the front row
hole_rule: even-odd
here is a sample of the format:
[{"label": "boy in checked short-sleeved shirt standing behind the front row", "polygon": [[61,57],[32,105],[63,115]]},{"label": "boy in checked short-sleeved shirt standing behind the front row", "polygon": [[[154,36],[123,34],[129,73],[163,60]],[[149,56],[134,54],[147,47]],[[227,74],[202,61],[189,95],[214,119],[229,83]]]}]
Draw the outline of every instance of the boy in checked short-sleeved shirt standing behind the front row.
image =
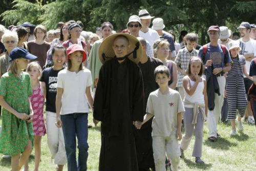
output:
[{"label": "boy in checked short-sleeved shirt standing behind the front row", "polygon": [[194,47],[197,44],[198,36],[195,33],[188,33],[185,36],[186,46],[183,49],[180,49],[178,55],[175,59],[175,63],[178,70],[178,91],[181,95],[181,98],[184,98],[184,89],[182,86],[183,77],[186,75],[186,70],[188,66],[188,62],[191,56],[197,56],[198,50]]}]

